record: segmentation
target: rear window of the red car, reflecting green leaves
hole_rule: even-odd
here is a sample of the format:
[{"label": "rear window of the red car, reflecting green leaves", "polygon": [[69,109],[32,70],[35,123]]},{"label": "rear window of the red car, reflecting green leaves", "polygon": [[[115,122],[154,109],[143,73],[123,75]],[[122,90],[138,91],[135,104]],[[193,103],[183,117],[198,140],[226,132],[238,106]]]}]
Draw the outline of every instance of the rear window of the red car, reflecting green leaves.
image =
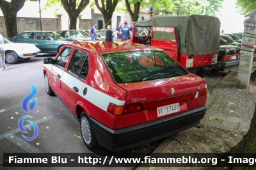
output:
[{"label": "rear window of the red car, reflecting green leaves", "polygon": [[186,75],[188,72],[163,51],[129,51],[103,54],[116,83],[150,81]]}]

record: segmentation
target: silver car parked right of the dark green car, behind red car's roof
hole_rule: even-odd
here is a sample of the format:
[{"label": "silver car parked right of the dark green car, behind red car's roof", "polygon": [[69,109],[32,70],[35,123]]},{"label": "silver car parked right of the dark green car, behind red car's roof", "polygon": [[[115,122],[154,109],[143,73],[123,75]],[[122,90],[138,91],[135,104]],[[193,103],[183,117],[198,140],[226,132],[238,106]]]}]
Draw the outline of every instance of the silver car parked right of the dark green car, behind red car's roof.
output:
[{"label": "silver car parked right of the dark green car, behind red car's roof", "polygon": [[68,29],[55,31],[58,35],[63,38],[81,40],[81,41],[91,41],[90,36],[83,30]]}]

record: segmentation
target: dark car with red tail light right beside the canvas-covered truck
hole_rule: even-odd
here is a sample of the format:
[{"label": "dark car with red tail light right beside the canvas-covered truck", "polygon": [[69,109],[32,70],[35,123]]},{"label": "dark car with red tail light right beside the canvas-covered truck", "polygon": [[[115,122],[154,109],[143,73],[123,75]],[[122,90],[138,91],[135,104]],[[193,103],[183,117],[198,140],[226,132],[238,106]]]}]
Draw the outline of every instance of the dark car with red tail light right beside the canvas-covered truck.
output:
[{"label": "dark car with red tail light right beside the canvas-covered truck", "polygon": [[221,71],[239,66],[241,49],[234,45],[220,45],[217,63]]}]

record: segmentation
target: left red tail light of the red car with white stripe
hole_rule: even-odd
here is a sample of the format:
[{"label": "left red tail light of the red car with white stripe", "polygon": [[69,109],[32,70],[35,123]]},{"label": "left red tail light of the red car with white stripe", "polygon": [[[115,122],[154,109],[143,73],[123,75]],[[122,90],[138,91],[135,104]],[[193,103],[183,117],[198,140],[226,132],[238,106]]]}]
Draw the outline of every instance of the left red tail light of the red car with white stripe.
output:
[{"label": "left red tail light of the red car with white stripe", "polygon": [[107,111],[111,114],[118,116],[122,114],[129,114],[133,112],[143,111],[143,107],[140,103],[131,104],[131,105],[115,105],[115,104],[109,103]]}]

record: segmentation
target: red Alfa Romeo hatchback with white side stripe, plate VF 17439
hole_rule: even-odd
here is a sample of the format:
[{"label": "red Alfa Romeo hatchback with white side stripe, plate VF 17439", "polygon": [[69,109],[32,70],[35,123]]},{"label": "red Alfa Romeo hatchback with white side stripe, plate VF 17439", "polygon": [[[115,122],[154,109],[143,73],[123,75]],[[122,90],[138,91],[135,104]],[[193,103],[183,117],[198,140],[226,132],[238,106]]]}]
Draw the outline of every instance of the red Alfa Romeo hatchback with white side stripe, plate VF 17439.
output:
[{"label": "red Alfa Romeo hatchback with white side stripe, plate VF 17439", "polygon": [[207,109],[202,77],[141,44],[67,44],[44,59],[44,80],[46,93],[56,93],[80,120],[92,151],[121,151],[198,127]]}]

